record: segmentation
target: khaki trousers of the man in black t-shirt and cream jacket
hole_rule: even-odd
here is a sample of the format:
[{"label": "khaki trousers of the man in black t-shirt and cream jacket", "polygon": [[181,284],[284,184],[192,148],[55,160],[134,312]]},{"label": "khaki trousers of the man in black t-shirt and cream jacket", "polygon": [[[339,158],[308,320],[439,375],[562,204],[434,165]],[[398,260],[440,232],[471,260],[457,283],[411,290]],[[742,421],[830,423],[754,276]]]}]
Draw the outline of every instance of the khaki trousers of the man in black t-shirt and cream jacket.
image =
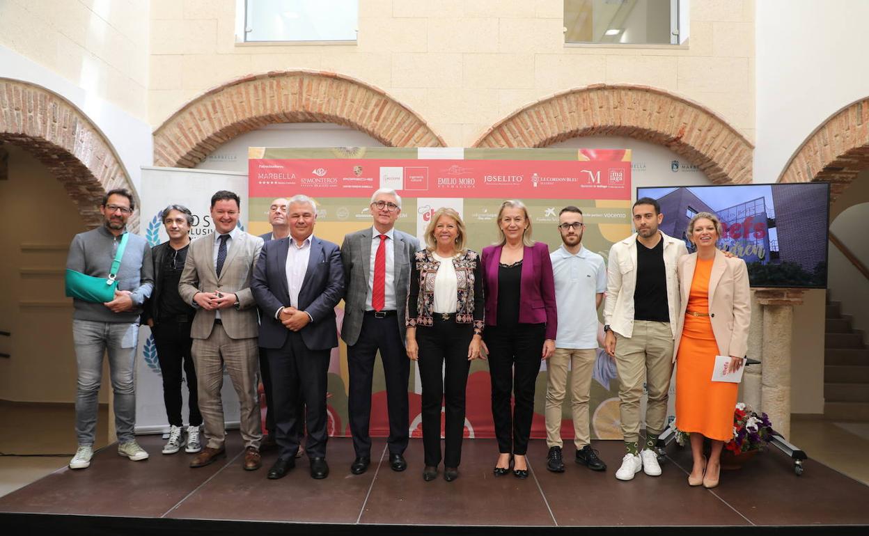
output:
[{"label": "khaki trousers of the man in black t-shirt and cream jacket", "polygon": [[615,334],[619,374],[621,433],[640,440],[640,397],[646,383],[646,431],[660,434],[667,424],[667,392],[673,376],[673,330],[669,322],[634,321],[634,334]]}]

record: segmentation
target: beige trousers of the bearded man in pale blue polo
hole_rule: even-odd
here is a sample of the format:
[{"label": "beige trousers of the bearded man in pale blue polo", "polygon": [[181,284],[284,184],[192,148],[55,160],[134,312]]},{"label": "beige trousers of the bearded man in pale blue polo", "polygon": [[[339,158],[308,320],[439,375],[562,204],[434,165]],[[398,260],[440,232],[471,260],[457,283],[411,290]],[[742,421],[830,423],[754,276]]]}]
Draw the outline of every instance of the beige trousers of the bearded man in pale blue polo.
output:
[{"label": "beige trousers of the bearded man in pale blue polo", "polygon": [[[547,447],[563,447],[561,441],[561,403],[570,376],[570,408],[574,417],[574,445],[577,450],[589,444],[588,398],[592,387],[592,372],[597,351],[555,348],[547,362],[546,443]],[[567,366],[570,373],[567,373]]]}]

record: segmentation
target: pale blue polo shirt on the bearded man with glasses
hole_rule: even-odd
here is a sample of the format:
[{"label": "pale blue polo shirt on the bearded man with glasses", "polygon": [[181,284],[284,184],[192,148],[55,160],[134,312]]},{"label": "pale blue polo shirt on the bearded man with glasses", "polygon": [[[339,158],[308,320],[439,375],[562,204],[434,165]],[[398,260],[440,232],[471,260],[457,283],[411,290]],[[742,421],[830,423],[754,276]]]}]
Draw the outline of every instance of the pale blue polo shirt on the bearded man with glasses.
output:
[{"label": "pale blue polo shirt on the bearded man with glasses", "polygon": [[558,332],[555,347],[583,350],[598,347],[595,296],[607,290],[603,257],[580,247],[571,255],[562,245],[549,258],[555,277]]}]

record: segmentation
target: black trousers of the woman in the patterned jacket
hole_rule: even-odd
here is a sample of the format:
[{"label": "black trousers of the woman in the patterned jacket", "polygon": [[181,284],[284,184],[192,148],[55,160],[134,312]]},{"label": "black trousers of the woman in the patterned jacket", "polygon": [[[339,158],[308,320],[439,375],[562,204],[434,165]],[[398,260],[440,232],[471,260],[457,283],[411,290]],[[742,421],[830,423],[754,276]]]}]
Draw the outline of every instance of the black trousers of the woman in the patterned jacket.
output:
[{"label": "black trousers of the woman in the patterned jacket", "polygon": [[[434,314],[434,325],[418,326],[416,361],[422,380],[422,446],[425,464],[437,467],[441,463],[441,401],[445,422],[444,467],[459,467],[461,440],[465,429],[465,389],[468,387],[468,345],[474,337],[474,326],[456,324],[454,315],[441,320]],[[441,375],[442,373],[442,375]]]}]

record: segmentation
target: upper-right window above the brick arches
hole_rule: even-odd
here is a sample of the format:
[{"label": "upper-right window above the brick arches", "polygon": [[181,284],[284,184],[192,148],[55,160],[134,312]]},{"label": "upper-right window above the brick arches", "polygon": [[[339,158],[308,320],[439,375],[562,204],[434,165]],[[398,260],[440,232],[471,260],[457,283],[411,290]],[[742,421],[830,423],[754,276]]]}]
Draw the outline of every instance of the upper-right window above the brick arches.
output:
[{"label": "upper-right window above the brick arches", "polygon": [[564,0],[565,43],[679,43],[678,0]]}]

